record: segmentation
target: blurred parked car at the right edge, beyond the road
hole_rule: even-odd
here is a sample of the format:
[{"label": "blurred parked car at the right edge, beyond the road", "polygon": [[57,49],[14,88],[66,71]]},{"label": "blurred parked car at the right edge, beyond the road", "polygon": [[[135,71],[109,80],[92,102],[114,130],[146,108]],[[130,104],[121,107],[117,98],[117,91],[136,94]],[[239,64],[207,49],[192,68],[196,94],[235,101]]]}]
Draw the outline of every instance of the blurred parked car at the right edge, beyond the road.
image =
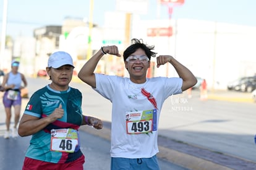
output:
[{"label": "blurred parked car at the right edge, beyond the road", "polygon": [[256,77],[242,77],[228,83],[228,90],[236,90],[251,93],[256,89]]}]

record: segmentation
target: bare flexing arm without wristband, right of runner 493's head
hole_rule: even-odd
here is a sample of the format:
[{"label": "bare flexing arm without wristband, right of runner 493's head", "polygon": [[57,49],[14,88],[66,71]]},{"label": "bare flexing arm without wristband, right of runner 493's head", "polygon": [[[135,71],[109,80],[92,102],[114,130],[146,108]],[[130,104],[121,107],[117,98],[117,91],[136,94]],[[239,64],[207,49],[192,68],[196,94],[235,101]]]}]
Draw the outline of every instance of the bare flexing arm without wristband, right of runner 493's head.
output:
[{"label": "bare flexing arm without wristband, right of runner 493's head", "polygon": [[190,87],[193,87],[195,83],[197,83],[197,79],[192,74],[192,72],[190,72],[190,70],[187,69],[187,67],[183,66],[176,59],[174,59],[173,56],[158,56],[156,60],[157,60],[157,67],[160,67],[160,65],[163,65],[166,62],[169,62],[171,65],[173,65],[177,74],[183,80],[182,87],[181,87],[182,91],[187,90]]}]

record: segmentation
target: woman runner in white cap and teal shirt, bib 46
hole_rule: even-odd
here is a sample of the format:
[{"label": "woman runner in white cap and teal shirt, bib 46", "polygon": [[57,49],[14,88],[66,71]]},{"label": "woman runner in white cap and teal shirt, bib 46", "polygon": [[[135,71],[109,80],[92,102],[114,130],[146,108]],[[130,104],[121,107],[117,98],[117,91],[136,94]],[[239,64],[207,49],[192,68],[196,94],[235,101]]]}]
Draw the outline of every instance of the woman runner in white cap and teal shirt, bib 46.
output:
[{"label": "woman runner in white cap and teal shirt, bib 46", "polygon": [[74,65],[70,54],[57,51],[48,59],[51,83],[35,91],[20,119],[19,135],[32,135],[23,170],[83,169],[80,125],[102,129],[100,119],[82,114],[82,93],[69,87]]}]

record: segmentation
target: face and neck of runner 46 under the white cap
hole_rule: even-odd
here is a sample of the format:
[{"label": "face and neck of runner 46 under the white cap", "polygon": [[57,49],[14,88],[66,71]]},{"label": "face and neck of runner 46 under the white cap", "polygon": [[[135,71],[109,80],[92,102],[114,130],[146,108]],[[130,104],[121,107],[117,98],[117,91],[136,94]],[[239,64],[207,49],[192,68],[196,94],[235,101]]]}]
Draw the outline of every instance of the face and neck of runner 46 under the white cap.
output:
[{"label": "face and neck of runner 46 under the white cap", "polygon": [[51,77],[51,88],[58,91],[65,91],[69,88],[69,83],[72,80],[74,67],[64,65],[58,69],[46,67],[47,74]]}]

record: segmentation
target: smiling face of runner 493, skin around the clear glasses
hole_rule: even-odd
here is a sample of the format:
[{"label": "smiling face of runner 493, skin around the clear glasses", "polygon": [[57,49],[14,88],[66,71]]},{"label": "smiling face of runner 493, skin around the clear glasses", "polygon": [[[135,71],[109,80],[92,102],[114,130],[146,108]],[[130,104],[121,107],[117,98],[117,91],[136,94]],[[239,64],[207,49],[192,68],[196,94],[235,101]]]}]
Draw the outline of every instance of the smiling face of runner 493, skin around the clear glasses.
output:
[{"label": "smiling face of runner 493, skin around the clear glasses", "polygon": [[[146,56],[145,51],[139,48],[130,56]],[[150,61],[142,62],[137,59],[134,63],[125,61],[126,69],[129,72],[130,80],[134,83],[145,83],[147,70],[150,67]]]}]

